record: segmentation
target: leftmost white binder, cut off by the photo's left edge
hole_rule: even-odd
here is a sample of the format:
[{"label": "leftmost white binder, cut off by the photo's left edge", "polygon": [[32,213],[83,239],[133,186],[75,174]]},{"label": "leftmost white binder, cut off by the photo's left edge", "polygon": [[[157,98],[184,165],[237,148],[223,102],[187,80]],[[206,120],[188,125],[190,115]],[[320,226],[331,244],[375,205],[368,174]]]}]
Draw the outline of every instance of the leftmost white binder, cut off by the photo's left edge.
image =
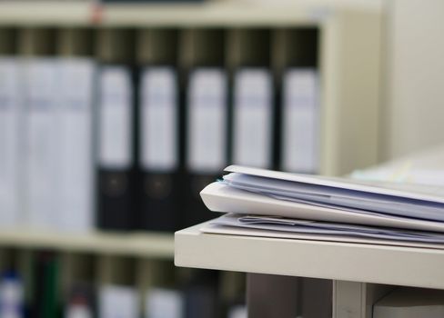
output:
[{"label": "leftmost white binder, cut off by the photo's left edge", "polygon": [[20,220],[20,175],[24,156],[22,143],[23,112],[21,60],[0,57],[0,227]]}]

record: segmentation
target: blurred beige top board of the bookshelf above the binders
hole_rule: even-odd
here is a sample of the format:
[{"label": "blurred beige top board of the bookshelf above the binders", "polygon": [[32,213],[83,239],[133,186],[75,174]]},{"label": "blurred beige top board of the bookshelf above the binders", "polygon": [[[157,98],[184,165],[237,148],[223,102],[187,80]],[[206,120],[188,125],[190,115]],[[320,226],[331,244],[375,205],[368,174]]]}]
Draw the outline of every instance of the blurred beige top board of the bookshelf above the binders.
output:
[{"label": "blurred beige top board of the bookshelf above the binders", "polygon": [[380,4],[348,1],[218,0],[190,4],[97,5],[88,0],[1,1],[0,25],[278,26],[317,25],[337,9],[379,11]]}]

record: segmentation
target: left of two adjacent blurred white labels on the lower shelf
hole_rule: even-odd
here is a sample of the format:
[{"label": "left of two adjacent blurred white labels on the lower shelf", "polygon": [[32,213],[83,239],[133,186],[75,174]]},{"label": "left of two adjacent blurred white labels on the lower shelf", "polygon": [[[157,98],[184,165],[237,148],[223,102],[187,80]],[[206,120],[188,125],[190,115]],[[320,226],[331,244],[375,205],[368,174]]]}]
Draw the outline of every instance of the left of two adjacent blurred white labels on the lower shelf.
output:
[{"label": "left of two adjacent blurred white labels on the lower shelf", "polygon": [[100,287],[99,318],[138,318],[139,294],[136,288],[115,284]]}]

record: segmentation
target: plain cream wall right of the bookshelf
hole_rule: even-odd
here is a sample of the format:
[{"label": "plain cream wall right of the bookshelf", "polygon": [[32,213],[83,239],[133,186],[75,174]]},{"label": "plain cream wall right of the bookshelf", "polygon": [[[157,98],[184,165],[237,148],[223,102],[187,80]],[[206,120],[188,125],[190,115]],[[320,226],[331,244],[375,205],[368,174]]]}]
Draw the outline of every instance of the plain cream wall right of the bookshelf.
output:
[{"label": "plain cream wall right of the bookshelf", "polygon": [[444,142],[444,2],[392,0],[388,8],[385,159]]}]

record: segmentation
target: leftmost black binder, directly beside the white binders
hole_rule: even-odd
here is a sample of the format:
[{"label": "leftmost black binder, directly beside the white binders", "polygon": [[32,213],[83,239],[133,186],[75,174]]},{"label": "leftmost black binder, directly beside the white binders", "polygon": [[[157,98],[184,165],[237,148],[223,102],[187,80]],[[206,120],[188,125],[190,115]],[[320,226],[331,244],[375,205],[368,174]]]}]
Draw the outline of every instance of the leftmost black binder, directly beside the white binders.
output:
[{"label": "leftmost black binder, directly beside the white binders", "polygon": [[[97,226],[130,230],[135,204],[135,94],[126,30],[101,30],[98,68]],[[130,46],[131,47],[131,46]]]}]

